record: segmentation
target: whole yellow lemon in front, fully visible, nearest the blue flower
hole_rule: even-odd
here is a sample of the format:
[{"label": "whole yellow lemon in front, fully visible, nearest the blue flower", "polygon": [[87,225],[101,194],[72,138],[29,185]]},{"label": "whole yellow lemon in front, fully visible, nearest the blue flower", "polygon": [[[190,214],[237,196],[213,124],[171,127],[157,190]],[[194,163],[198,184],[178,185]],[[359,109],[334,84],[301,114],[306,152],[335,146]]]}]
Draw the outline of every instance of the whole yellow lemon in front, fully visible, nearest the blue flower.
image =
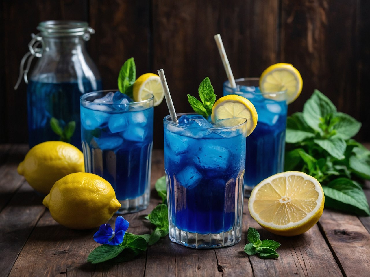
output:
[{"label": "whole yellow lemon in front, fully visible, nearest the blue flower", "polygon": [[111,184],[85,172],[72,173],[55,182],[43,204],[56,222],[71,229],[98,227],[121,207]]}]

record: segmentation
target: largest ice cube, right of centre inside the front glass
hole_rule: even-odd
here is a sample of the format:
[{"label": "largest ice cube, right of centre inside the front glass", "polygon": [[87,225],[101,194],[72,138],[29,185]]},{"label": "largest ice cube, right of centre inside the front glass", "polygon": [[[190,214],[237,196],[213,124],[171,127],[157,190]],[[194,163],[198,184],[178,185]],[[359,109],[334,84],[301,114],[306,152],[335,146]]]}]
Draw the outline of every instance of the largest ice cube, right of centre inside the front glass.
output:
[{"label": "largest ice cube, right of centre inside the front glass", "polygon": [[193,158],[198,168],[224,171],[229,166],[229,150],[222,146],[203,144]]}]

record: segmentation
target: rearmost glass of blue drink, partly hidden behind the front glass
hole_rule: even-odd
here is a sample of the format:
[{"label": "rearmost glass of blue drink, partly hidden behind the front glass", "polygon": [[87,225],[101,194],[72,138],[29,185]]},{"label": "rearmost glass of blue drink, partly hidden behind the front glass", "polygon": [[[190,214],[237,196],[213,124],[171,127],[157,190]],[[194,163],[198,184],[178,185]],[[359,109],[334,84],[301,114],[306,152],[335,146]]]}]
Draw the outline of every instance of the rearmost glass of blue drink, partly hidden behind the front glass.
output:
[{"label": "rearmost glass of blue drink, partly hidden behind the front glass", "polygon": [[223,95],[236,94],[255,106],[258,122],[246,139],[245,196],[262,180],[284,171],[285,130],[287,117],[286,90],[261,92],[259,78],[236,79],[236,88],[223,83]]}]

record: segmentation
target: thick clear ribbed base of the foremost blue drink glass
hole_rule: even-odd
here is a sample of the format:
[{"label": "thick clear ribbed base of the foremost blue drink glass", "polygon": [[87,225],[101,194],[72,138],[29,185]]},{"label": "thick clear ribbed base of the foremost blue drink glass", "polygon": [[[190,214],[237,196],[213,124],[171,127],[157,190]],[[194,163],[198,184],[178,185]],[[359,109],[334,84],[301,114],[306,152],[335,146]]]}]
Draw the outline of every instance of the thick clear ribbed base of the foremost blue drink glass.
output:
[{"label": "thick clear ribbed base of the foremost blue drink glass", "polygon": [[217,234],[198,234],[190,233],[178,229],[175,225],[169,225],[169,238],[172,242],[182,244],[191,248],[219,248],[232,246],[240,242],[242,234],[241,224],[238,227],[232,228],[227,232]]}]

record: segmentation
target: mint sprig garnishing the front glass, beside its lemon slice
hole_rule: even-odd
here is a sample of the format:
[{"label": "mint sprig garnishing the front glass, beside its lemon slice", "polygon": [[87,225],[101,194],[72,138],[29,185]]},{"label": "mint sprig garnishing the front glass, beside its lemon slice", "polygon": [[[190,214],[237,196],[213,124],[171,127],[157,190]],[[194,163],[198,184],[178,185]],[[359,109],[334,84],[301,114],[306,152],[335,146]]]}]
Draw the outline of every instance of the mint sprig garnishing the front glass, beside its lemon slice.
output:
[{"label": "mint sprig garnishing the front glass, beside its lemon slice", "polygon": [[216,101],[215,90],[213,90],[213,86],[208,77],[206,77],[199,85],[198,93],[202,102],[188,94],[189,104],[196,113],[208,119],[212,113],[213,104]]}]

